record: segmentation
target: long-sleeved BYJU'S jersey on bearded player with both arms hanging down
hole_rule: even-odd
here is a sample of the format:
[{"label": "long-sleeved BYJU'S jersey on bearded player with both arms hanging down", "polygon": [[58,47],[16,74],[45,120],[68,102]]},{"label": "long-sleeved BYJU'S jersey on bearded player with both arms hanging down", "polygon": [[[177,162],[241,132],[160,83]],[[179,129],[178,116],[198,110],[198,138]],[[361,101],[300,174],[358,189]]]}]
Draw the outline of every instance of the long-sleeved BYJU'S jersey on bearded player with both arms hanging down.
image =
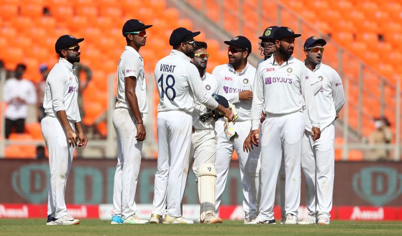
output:
[{"label": "long-sleeved BYJU'S jersey on bearded player with both arms hanging down", "polygon": [[274,57],[262,62],[255,74],[252,130],[260,124],[260,114],[289,114],[302,111],[304,104],[312,125],[320,128],[318,111],[305,64],[290,56],[281,66]]}]

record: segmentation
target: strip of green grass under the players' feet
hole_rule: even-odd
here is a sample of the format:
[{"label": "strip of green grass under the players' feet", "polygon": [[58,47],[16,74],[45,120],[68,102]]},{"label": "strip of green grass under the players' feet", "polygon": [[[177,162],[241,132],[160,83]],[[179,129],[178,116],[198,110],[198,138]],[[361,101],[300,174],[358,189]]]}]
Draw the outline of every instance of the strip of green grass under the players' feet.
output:
[{"label": "strip of green grass under the players' feet", "polygon": [[0,219],[0,235],[402,235],[400,221],[331,221],[331,225],[137,224],[83,219],[79,225],[45,225],[45,219]]}]

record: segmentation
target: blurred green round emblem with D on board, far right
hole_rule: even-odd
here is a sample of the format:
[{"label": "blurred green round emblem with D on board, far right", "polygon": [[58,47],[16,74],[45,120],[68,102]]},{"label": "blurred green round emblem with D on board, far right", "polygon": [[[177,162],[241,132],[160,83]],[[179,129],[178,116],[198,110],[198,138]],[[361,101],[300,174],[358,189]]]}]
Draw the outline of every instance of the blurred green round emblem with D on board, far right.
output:
[{"label": "blurred green round emblem with D on board, far right", "polygon": [[374,206],[385,205],[402,193],[402,174],[389,167],[362,168],[353,176],[353,190]]}]

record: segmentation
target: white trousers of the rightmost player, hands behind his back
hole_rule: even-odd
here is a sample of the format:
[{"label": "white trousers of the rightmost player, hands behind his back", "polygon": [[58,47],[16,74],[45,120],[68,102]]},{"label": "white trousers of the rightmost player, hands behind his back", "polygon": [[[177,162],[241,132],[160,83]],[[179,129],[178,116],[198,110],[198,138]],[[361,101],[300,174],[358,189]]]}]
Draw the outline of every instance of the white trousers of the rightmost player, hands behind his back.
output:
[{"label": "white trousers of the rightmost player, hands behind his back", "polygon": [[302,170],[306,177],[306,206],[309,217],[330,218],[334,191],[335,124],[324,128],[320,139],[313,142],[305,131],[302,147]]}]

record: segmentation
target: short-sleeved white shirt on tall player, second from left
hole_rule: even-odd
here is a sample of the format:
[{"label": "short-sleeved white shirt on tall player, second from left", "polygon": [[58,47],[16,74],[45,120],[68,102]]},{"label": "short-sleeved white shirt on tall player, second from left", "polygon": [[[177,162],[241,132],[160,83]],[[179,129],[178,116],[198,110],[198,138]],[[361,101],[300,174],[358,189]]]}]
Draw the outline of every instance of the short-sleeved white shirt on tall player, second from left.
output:
[{"label": "short-sleeved white shirt on tall player, second from left", "polygon": [[148,113],[144,60],[133,47],[125,46],[117,68],[117,102],[115,108],[130,109],[130,105],[126,101],[125,90],[125,79],[130,76],[134,76],[137,81],[135,94],[137,95],[138,108],[141,113]]}]

